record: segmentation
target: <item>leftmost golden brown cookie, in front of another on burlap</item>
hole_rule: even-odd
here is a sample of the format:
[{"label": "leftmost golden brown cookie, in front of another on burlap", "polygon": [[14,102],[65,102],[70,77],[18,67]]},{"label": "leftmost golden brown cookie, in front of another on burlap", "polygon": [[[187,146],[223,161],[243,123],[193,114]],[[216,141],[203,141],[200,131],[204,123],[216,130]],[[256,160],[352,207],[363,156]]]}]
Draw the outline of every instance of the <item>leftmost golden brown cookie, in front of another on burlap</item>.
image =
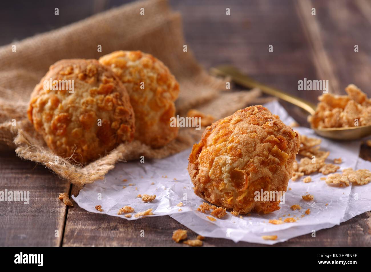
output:
[{"label": "leftmost golden brown cookie, in front of another on burlap", "polygon": [[93,161],[134,138],[128,93],[97,60],[61,60],[50,66],[31,94],[27,113],[48,147],[76,162]]}]

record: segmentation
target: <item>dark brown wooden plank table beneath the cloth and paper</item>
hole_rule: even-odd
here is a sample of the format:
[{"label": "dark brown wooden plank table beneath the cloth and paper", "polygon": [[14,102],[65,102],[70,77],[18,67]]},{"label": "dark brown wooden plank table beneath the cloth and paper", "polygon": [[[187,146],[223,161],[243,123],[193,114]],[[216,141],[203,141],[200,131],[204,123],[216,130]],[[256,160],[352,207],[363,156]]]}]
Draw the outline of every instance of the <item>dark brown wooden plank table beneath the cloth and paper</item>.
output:
[{"label": "dark brown wooden plank table beneath the cloth and paper", "polygon": [[[6,1],[2,3],[0,43],[52,30],[118,6],[122,1]],[[298,91],[297,81],[329,80],[330,92],[343,94],[355,83],[371,97],[371,2],[356,1],[170,1],[183,14],[188,48],[206,68],[230,63],[259,81],[313,103],[321,91]],[[63,16],[54,16],[58,7]],[[226,16],[229,7],[231,15]],[[311,9],[316,15],[311,15]],[[273,45],[273,52],[268,46]],[[359,52],[354,52],[354,46]],[[305,114],[282,103],[302,125]],[[371,160],[362,145],[360,156]],[[67,207],[57,199],[68,182],[43,166],[0,152],[0,190],[30,191],[31,202],[0,202],[0,245],[6,246],[182,246],[171,234],[183,228],[170,216],[126,221]],[[141,230],[145,237],[140,236]],[[58,232],[57,232],[58,231]],[[56,232],[58,235],[56,235]],[[191,231],[190,231],[191,232]],[[192,233],[192,232],[191,232]],[[192,234],[194,236],[196,234]],[[256,246],[207,238],[205,246]],[[371,214],[365,212],[331,229],[276,246],[370,246]]]}]

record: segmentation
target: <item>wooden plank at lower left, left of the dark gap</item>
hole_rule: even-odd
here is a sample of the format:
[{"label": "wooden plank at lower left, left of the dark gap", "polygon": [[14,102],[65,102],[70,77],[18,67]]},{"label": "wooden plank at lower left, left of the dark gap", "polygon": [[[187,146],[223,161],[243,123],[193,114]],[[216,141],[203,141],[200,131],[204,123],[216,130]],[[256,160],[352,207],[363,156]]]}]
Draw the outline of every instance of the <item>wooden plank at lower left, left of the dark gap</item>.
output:
[{"label": "wooden plank at lower left, left of the dark gap", "polygon": [[[30,202],[0,202],[0,246],[59,246],[66,206],[58,200],[69,184],[48,169],[0,152],[0,191],[29,191]],[[59,236],[55,236],[55,231]]]}]

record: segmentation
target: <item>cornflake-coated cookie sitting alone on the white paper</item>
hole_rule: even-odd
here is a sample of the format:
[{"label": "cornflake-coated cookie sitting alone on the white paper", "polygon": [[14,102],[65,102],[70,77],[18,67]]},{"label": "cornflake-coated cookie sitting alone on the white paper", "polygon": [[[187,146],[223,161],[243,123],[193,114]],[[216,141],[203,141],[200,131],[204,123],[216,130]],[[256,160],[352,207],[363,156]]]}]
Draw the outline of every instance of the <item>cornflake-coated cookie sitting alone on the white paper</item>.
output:
[{"label": "cornflake-coated cookie sitting alone on the white paper", "polygon": [[255,201],[255,192],[285,192],[299,136],[262,105],[214,122],[193,146],[188,172],[194,192],[212,204],[247,214],[272,212],[275,201]]}]

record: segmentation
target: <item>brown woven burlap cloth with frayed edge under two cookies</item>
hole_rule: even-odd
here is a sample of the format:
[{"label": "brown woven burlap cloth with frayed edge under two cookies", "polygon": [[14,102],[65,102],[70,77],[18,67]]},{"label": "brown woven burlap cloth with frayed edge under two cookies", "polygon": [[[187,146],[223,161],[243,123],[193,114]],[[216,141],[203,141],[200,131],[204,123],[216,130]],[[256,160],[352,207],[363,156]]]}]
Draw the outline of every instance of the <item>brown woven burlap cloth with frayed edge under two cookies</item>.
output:
[{"label": "brown woven burlap cloth with frayed edge under two cookies", "polygon": [[[140,15],[140,8],[145,15]],[[12,45],[16,52],[12,52]],[[259,90],[226,92],[226,80],[211,77],[194,59],[184,41],[181,16],[171,11],[165,0],[138,1],[48,33],[0,48],[0,145],[16,154],[45,165],[78,187],[103,179],[117,161],[163,158],[190,147],[202,130],[181,128],[167,146],[152,149],[138,141],[121,144],[85,167],[58,157],[26,118],[29,95],[49,66],[63,58],[99,58],[115,50],[141,50],[162,60],[180,83],[177,113],[190,108],[216,119],[232,114],[247,104],[261,101]],[[97,46],[102,46],[102,52]],[[224,90],[224,92],[223,92]],[[15,122],[14,122],[15,120]],[[14,124],[16,124],[14,126]]]}]

